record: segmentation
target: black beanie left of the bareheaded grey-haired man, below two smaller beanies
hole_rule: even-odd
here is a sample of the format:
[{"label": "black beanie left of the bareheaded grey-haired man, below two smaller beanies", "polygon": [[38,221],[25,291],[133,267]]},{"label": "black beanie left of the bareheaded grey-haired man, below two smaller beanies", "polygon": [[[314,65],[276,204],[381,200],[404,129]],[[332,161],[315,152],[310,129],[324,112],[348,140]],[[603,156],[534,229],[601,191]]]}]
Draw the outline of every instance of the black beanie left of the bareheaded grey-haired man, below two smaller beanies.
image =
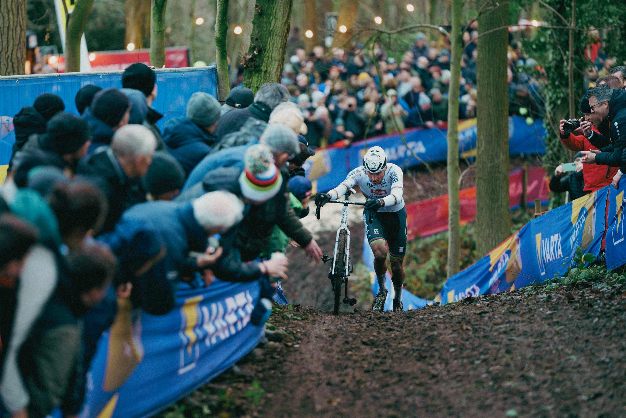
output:
[{"label": "black beanie left of the bareheaded grey-haired man, below two smaller beanies", "polygon": [[59,113],[48,121],[42,147],[56,154],[71,154],[89,140],[89,125],[71,113]]}]

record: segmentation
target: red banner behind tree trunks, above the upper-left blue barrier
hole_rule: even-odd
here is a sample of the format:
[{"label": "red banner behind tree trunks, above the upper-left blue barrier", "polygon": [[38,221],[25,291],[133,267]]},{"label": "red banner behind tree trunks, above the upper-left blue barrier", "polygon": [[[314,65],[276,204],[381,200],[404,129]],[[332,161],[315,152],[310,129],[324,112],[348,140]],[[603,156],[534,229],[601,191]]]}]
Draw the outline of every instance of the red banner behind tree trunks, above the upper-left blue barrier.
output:
[{"label": "red banner behind tree trunks, above the upper-left blue barrier", "polygon": [[[134,63],[150,65],[150,50],[91,52],[91,71],[118,71]],[[65,72],[65,57],[51,55],[48,65],[58,73]],[[189,66],[189,50],[185,46],[165,48],[165,68],[185,68]],[[57,70],[58,68],[58,70]]]}]

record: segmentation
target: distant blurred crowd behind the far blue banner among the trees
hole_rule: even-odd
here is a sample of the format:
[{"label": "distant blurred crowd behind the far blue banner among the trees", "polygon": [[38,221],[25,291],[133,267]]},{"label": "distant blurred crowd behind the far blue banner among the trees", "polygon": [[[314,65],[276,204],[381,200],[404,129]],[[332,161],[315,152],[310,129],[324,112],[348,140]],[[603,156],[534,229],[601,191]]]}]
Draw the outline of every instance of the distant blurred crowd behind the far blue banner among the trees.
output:
[{"label": "distant blurred crowd behind the far blue banner among the trees", "polygon": [[[473,23],[463,32],[459,118],[476,117],[476,50]],[[448,120],[450,44],[443,35],[418,33],[409,50],[391,56],[380,44],[307,53],[294,44],[282,84],[302,108],[313,147],[347,144],[404,128],[445,128]],[[510,114],[540,118],[544,78],[536,62],[511,38],[508,53]],[[386,96],[383,95],[383,88]]]}]

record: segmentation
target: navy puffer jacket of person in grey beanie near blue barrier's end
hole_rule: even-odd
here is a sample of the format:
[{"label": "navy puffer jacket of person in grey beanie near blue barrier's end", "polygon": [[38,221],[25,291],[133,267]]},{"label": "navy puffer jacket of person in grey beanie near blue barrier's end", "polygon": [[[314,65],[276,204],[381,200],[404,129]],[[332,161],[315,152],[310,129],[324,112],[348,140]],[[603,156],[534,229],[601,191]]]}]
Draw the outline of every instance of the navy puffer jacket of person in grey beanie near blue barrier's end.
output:
[{"label": "navy puffer jacket of person in grey beanie near blue barrier's end", "polygon": [[163,141],[168,152],[180,162],[185,175],[207,155],[215,137],[192,122],[190,118],[178,117],[165,122]]}]

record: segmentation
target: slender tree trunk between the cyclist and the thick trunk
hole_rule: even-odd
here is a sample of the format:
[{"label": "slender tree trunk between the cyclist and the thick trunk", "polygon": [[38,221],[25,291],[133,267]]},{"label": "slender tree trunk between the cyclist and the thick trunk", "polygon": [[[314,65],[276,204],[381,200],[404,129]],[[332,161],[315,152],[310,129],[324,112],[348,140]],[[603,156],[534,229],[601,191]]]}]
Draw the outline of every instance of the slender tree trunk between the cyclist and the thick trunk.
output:
[{"label": "slender tree trunk between the cyclist and the thick trunk", "polygon": [[459,199],[459,83],[461,78],[462,0],[452,0],[451,61],[448,90],[448,277],[458,273],[461,260],[461,201]]}]

